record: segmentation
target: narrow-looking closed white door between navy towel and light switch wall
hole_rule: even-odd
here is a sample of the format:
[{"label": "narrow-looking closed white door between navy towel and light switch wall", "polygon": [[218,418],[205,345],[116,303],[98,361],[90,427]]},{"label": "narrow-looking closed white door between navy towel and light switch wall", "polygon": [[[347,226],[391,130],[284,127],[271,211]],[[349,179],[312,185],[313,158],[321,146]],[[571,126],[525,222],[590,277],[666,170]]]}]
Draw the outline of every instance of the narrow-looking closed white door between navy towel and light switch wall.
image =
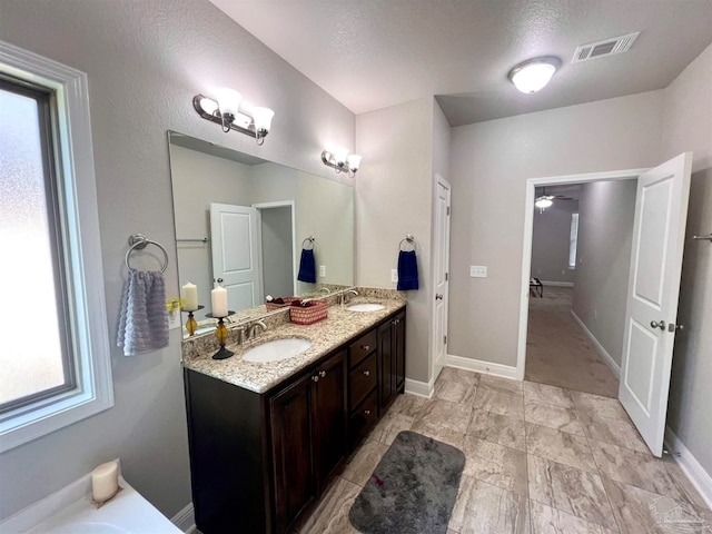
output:
[{"label": "narrow-looking closed white door between navy towel and light switch wall", "polygon": [[449,278],[449,197],[451,186],[436,175],[435,243],[433,244],[433,377],[437,378],[447,355],[447,309]]}]

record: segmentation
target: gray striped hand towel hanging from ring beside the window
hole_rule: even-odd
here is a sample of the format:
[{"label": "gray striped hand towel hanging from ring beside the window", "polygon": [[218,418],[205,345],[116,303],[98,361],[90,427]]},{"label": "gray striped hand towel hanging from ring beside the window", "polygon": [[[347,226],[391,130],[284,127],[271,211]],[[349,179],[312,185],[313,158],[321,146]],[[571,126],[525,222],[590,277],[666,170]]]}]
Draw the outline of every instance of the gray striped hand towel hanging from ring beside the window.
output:
[{"label": "gray striped hand towel hanging from ring beside the window", "polygon": [[166,283],[160,271],[129,269],[121,295],[117,345],[125,356],[168,346]]}]

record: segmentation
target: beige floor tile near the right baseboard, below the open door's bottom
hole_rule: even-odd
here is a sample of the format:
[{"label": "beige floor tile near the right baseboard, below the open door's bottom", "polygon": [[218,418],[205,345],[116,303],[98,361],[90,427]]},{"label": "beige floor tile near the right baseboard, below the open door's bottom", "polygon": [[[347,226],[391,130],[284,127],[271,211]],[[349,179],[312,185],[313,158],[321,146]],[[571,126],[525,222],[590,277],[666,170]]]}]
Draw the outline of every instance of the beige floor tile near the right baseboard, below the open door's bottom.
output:
[{"label": "beige floor tile near the right baseboard, below the open door's bottom", "polygon": [[688,501],[685,490],[670,476],[665,463],[652,454],[639,453],[593,439],[591,451],[599,469],[609,478],[665,495],[675,501]]}]

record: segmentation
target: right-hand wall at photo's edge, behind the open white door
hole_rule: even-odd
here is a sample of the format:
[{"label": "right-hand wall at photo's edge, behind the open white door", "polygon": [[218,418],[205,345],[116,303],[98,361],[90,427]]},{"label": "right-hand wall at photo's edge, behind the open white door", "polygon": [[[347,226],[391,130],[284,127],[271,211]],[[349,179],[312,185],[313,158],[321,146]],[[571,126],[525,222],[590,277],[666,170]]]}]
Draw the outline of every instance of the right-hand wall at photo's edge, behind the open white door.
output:
[{"label": "right-hand wall at photo's edge, behind the open white door", "polygon": [[664,91],[662,160],[692,150],[668,424],[712,478],[712,46]]}]

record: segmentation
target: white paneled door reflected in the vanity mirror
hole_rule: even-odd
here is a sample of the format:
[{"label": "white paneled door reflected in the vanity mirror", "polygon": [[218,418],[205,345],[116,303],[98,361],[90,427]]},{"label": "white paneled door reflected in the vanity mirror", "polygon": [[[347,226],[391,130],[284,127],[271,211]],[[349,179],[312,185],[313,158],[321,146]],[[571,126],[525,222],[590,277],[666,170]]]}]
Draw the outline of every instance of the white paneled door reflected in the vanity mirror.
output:
[{"label": "white paneled door reflected in the vanity mirror", "polygon": [[255,208],[210,204],[212,278],[222,278],[231,310],[263,301],[257,236]]}]

